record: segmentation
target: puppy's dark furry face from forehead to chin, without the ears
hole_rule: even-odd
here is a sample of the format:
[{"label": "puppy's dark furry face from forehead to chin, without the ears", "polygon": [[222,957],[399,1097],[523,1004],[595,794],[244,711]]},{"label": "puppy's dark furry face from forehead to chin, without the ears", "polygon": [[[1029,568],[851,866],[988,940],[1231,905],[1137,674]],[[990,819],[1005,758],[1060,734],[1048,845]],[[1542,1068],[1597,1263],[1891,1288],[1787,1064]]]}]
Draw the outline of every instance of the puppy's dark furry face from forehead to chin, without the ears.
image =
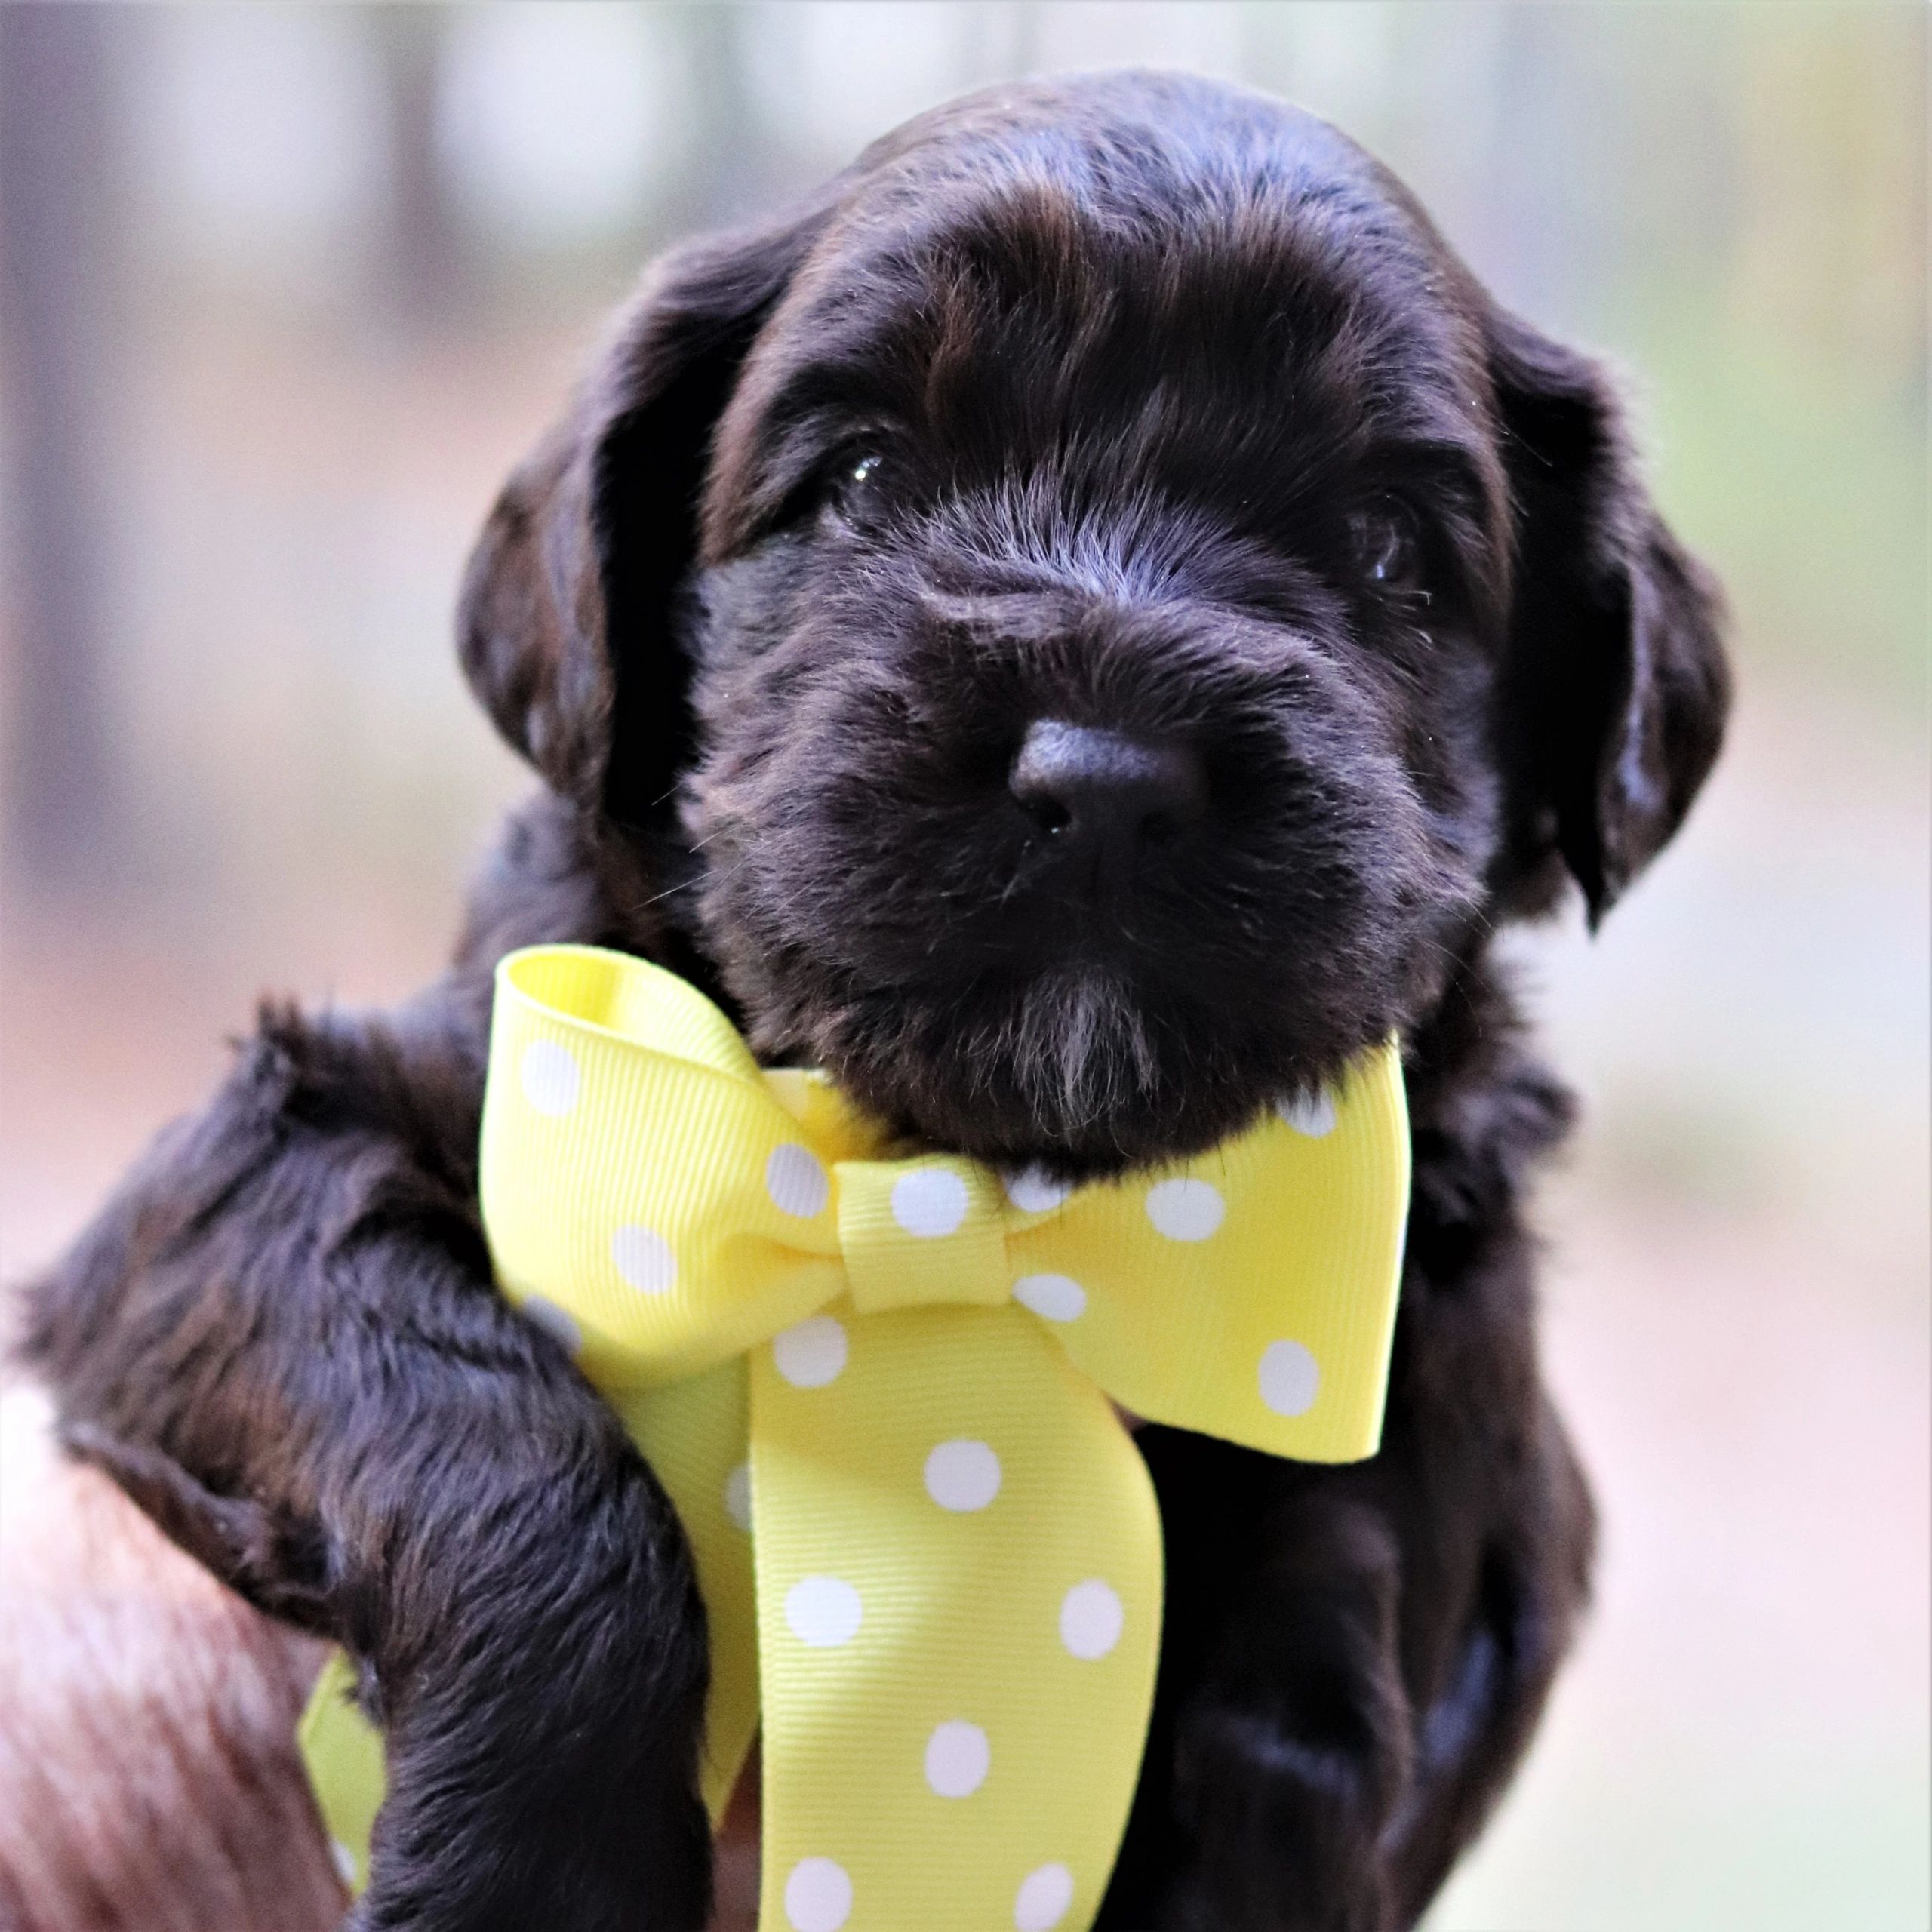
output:
[{"label": "puppy's dark furry face from forehead to chin, without the ears", "polygon": [[821,243],[724,415],[699,920],[763,1045],[943,1144],[1194,1150],[1480,900],[1480,342],[1387,205],[941,199]]}]

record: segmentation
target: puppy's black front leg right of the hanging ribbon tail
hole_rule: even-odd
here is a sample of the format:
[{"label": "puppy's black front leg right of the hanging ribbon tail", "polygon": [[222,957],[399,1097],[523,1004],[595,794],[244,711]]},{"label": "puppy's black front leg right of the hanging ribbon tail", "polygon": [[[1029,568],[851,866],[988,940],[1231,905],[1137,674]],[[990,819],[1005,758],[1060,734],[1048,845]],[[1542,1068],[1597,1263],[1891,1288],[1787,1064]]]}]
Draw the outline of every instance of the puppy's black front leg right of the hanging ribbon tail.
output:
[{"label": "puppy's black front leg right of the hanging ribbon tail", "polygon": [[[1169,1522],[1169,1627],[1101,1922],[1385,1932],[1379,1839],[1412,1737],[1395,1536],[1349,1472],[1269,1470],[1171,1432],[1142,1443]],[[1287,1497],[1269,1495],[1283,1474]]]}]

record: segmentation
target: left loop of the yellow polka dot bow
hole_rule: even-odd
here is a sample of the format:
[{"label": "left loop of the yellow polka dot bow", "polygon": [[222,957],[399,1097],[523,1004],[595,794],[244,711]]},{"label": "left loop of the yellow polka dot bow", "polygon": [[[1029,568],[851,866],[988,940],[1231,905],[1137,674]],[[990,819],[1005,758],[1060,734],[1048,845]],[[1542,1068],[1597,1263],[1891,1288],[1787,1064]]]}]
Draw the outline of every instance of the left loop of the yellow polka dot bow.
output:
[{"label": "left loop of the yellow polka dot bow", "polygon": [[844,1293],[823,1119],[674,974],[510,954],[479,1155],[500,1287],[603,1389],[742,1356]]}]

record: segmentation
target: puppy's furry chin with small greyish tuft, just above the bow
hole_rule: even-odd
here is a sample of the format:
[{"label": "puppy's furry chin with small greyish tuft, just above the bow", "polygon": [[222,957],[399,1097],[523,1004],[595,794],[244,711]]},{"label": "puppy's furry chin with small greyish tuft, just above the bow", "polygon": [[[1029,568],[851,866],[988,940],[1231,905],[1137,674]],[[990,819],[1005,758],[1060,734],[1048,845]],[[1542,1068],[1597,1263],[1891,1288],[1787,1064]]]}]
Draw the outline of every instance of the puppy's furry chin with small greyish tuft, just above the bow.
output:
[{"label": "puppy's furry chin with small greyish tuft, just above the bow", "polygon": [[856,916],[788,922],[796,873],[771,895],[742,854],[715,866],[690,935],[761,1059],[821,1066],[912,1144],[1068,1180],[1206,1153],[1333,1082],[1405,1028],[1445,956],[1391,914],[1267,952],[1209,922],[1165,962],[1022,964],[956,922],[918,958]]}]

